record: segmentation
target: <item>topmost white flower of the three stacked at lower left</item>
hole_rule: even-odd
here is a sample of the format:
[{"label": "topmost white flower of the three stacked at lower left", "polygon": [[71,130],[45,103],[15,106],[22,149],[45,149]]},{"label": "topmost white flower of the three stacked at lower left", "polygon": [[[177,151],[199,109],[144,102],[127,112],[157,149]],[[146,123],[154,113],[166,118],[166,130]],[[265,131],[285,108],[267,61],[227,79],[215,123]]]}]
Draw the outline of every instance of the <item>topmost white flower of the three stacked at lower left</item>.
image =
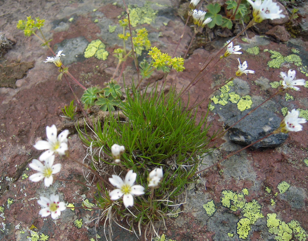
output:
[{"label": "topmost white flower of the three stacked at lower left", "polygon": [[52,125],[51,127],[46,127],[46,135],[47,135],[47,141],[38,141],[33,146],[37,150],[46,150],[44,151],[40,157],[39,160],[45,160],[54,153],[58,153],[60,156],[65,155],[65,151],[68,150],[67,147],[67,135],[68,130],[62,131],[57,138],[57,127],[55,125]]}]

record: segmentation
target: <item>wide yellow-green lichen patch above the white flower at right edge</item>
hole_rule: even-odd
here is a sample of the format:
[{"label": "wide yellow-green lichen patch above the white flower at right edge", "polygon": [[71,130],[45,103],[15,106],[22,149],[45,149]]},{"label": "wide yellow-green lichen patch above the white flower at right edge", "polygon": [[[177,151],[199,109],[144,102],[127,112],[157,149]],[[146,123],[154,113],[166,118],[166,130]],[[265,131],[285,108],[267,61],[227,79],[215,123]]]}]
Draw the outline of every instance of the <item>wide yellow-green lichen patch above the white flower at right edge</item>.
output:
[{"label": "wide yellow-green lichen patch above the white flower at right edge", "polygon": [[280,68],[280,65],[285,61],[289,63],[294,63],[294,65],[296,66],[302,66],[302,59],[297,54],[289,54],[287,56],[283,56],[281,53],[274,50],[265,49],[263,51],[272,54],[270,55],[270,58],[272,58],[272,60],[267,62],[267,65],[271,68],[278,69]]}]

